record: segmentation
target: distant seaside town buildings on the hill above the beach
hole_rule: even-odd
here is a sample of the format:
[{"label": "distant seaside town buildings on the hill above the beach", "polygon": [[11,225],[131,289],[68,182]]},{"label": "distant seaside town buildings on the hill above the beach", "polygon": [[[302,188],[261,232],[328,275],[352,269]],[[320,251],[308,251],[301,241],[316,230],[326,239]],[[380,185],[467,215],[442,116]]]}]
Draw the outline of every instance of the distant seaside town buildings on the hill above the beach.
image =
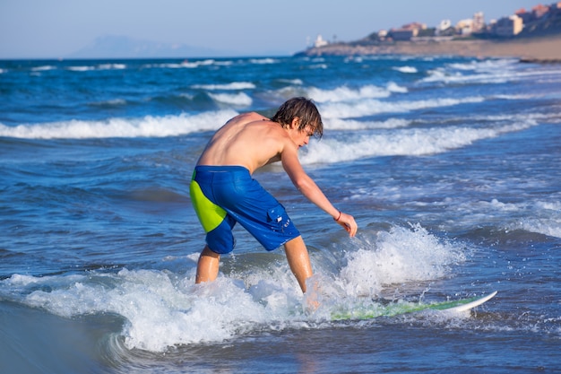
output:
[{"label": "distant seaside town buildings on the hill above the beach", "polygon": [[[561,32],[561,2],[555,4],[537,4],[526,10],[524,8],[498,20],[485,22],[482,12],[474,13],[471,18],[453,24],[443,20],[435,27],[427,27],[421,22],[410,22],[400,28],[379,30],[356,42],[361,45],[380,44],[393,41],[423,41],[452,39],[513,39],[524,36],[547,36]],[[336,39],[334,37],[334,39]],[[318,35],[314,48],[323,48],[331,43]],[[349,44],[349,43],[348,43]]]}]

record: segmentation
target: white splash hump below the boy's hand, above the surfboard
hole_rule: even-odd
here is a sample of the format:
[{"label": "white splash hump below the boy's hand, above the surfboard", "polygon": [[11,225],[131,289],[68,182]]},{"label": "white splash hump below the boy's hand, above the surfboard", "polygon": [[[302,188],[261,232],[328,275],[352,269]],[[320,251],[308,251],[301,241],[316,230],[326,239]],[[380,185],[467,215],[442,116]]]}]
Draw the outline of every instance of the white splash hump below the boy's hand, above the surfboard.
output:
[{"label": "white splash hump below the boy's hand, above the surfboard", "polygon": [[462,245],[438,239],[419,224],[393,227],[350,252],[338,282],[347,295],[377,296],[390,284],[442,278],[463,261]]}]

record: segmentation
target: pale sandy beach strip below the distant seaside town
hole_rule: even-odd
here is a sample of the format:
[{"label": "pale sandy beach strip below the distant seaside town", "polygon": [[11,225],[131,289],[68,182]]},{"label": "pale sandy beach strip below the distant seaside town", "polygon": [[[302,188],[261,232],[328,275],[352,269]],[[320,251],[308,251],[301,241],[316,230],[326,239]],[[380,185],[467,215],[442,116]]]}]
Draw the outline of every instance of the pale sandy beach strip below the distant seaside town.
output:
[{"label": "pale sandy beach strip below the distant seaside town", "polygon": [[508,40],[455,39],[393,41],[373,45],[349,43],[309,48],[298,55],[366,56],[366,55],[453,55],[462,57],[514,57],[522,62],[561,63],[561,35]]}]

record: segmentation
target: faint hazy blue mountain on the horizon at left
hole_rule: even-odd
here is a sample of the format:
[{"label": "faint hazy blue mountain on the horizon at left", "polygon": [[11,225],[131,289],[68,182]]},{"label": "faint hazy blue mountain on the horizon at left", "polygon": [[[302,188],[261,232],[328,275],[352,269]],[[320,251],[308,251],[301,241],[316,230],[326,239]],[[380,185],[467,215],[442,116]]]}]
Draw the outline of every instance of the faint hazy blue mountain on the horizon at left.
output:
[{"label": "faint hazy blue mountain on the horizon at left", "polygon": [[186,44],[160,43],[108,35],[93,40],[68,58],[166,58],[166,57],[231,57],[236,53],[228,50],[192,47]]}]

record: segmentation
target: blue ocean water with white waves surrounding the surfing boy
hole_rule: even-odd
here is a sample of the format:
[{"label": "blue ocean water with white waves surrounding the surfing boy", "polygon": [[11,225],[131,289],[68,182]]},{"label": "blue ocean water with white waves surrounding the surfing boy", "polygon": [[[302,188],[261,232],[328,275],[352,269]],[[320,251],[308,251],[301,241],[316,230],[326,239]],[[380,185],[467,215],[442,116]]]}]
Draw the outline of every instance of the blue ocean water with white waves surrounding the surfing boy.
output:
[{"label": "blue ocean water with white waves surrounding the surfing boy", "polygon": [[[561,372],[561,65],[460,57],[0,61],[0,372]],[[237,113],[317,103],[301,151],[350,239],[255,173],[310,251],[236,228],[194,285],[188,184]],[[470,312],[332,321],[459,300]],[[309,298],[321,302],[306,308]]]}]

